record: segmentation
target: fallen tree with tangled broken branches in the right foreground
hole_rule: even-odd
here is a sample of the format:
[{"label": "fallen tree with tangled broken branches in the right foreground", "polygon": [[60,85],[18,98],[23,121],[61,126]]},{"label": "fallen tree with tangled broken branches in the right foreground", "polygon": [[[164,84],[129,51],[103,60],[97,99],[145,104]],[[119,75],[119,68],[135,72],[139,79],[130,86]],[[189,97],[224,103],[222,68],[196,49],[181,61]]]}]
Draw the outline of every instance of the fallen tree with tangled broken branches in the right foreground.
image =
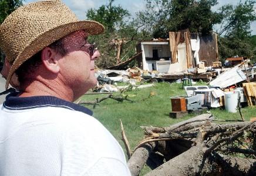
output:
[{"label": "fallen tree with tangled broken branches in the right foreground", "polygon": [[255,121],[214,121],[203,114],[169,127],[142,127],[144,139],[132,154],[127,150],[132,175],[146,163],[152,169],[148,176],[256,175]]}]

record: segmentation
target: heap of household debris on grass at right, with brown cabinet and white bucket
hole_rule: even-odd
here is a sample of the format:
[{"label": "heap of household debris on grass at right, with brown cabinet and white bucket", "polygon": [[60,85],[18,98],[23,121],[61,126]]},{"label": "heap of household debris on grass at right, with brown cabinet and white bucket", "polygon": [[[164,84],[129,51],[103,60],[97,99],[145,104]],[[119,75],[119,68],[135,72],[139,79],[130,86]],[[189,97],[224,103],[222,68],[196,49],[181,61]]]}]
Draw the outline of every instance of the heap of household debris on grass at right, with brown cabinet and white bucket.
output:
[{"label": "heap of household debris on grass at right, with brown cabinet and white bucket", "polygon": [[[225,65],[233,67],[216,69],[217,72],[220,71],[219,75],[211,80],[209,86],[184,86],[186,97],[171,97],[170,117],[183,117],[188,111],[203,108],[225,107],[225,110],[231,113],[239,110],[243,119],[241,107],[256,105],[256,83],[253,82],[256,67],[250,66],[249,63],[244,57],[228,58]],[[216,67],[221,66],[221,63],[215,64]]]}]

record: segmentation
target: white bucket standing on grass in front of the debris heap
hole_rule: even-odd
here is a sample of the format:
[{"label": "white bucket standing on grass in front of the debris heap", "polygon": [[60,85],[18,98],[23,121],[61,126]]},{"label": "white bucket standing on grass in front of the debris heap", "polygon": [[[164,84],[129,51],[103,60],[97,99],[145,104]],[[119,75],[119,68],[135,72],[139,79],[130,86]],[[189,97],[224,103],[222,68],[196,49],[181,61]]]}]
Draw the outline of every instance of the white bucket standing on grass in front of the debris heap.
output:
[{"label": "white bucket standing on grass in front of the debris heap", "polygon": [[237,112],[238,93],[237,92],[224,92],[225,110],[230,113]]}]

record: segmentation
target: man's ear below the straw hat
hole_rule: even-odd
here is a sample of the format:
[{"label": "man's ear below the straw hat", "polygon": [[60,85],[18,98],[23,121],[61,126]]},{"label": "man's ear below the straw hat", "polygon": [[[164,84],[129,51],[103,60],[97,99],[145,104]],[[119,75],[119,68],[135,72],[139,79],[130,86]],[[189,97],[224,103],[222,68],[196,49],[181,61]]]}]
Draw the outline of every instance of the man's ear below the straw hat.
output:
[{"label": "man's ear below the straw hat", "polygon": [[41,53],[43,65],[52,73],[59,73],[59,55],[55,50],[46,46]]}]

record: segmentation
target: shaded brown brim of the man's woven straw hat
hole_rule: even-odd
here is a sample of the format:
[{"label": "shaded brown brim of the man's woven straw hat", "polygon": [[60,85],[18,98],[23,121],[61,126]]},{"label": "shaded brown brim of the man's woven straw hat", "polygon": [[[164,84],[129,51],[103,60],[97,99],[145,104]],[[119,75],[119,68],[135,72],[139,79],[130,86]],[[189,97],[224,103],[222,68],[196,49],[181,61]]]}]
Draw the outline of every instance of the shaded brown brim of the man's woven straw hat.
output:
[{"label": "shaded brown brim of the man's woven straw hat", "polygon": [[104,26],[96,21],[85,20],[66,23],[65,25],[60,25],[42,33],[35,38],[33,42],[29,43],[23,52],[19,53],[18,57],[16,57],[9,71],[9,75],[7,76],[5,88],[8,89],[12,75],[14,75],[15,71],[22,65],[22,63],[56,40],[80,30],[85,31],[88,35],[99,35],[104,32]]}]

